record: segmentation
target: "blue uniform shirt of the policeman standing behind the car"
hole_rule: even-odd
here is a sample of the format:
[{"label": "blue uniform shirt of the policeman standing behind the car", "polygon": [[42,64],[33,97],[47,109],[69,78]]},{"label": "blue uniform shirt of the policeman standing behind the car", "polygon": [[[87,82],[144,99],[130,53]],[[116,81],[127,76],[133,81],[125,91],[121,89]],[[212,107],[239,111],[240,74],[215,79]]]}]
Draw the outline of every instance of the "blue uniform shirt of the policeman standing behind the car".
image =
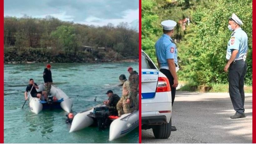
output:
[{"label": "blue uniform shirt of the policeman standing behind the car", "polygon": [[156,42],[155,49],[160,67],[168,67],[167,59],[174,59],[178,65],[178,50],[170,36],[163,34]]}]

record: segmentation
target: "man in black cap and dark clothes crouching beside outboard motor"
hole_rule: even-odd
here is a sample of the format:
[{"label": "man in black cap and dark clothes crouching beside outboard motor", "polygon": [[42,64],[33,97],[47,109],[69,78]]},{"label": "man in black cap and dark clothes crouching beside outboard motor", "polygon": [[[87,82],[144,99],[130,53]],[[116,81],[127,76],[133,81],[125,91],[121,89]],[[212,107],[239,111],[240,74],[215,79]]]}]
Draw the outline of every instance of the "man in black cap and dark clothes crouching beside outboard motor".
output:
[{"label": "man in black cap and dark clothes crouching beside outboard motor", "polygon": [[108,106],[109,112],[111,112],[112,115],[118,115],[116,106],[120,97],[117,94],[113,94],[112,90],[108,90],[106,94],[108,95],[108,100],[103,101],[103,103]]}]

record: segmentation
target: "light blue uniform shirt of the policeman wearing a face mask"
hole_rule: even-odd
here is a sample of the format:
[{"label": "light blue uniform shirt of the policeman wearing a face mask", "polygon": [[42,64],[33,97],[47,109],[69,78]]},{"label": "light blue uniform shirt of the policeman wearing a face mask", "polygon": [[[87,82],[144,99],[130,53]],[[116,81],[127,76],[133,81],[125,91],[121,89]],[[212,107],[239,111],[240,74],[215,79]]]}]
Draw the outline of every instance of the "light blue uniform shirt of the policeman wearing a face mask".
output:
[{"label": "light blue uniform shirt of the policeman wearing a face mask", "polygon": [[229,60],[233,50],[238,50],[236,59],[241,59],[243,55],[246,55],[248,50],[248,37],[247,34],[240,28],[236,29],[228,41],[228,48],[226,59]]}]

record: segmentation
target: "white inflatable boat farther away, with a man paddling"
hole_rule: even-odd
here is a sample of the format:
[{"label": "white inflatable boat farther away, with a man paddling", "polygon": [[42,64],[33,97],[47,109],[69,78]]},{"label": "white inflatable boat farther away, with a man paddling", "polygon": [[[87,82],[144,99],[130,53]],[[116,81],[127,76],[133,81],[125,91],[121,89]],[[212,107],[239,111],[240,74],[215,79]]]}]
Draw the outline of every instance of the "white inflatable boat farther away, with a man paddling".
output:
[{"label": "white inflatable boat farther away, with a man paddling", "polygon": [[[39,89],[36,89],[38,92],[45,91],[44,84],[38,85]],[[53,96],[57,98],[55,101],[53,101]],[[38,114],[43,109],[63,109],[64,111],[70,113],[71,108],[73,106],[73,102],[68,96],[59,88],[52,85],[50,90],[50,96],[48,96],[48,102],[44,100],[44,97],[42,95],[41,99],[39,98],[33,98],[31,95],[29,95],[29,108],[30,110]]]}]

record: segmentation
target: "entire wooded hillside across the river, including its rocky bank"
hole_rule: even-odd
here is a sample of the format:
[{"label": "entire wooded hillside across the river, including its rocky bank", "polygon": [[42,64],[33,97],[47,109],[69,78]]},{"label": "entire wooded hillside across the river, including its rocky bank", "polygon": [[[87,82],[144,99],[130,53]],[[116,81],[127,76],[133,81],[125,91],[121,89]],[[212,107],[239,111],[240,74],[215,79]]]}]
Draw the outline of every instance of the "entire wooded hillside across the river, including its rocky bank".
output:
[{"label": "entire wooded hillside across the river, including its rocky bank", "polygon": [[138,32],[128,23],[88,26],[47,16],[4,18],[5,62],[108,62],[138,58]]}]

